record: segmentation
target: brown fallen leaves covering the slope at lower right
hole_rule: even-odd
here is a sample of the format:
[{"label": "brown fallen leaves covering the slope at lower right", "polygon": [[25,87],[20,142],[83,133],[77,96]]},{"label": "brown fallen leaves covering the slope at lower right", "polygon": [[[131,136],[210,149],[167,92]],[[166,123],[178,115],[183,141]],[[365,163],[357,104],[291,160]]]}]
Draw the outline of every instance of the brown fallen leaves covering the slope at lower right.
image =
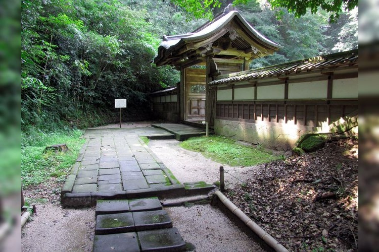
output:
[{"label": "brown fallen leaves covering the slope at lower right", "polygon": [[227,197],[290,250],[358,250],[358,140],[249,171]]}]

